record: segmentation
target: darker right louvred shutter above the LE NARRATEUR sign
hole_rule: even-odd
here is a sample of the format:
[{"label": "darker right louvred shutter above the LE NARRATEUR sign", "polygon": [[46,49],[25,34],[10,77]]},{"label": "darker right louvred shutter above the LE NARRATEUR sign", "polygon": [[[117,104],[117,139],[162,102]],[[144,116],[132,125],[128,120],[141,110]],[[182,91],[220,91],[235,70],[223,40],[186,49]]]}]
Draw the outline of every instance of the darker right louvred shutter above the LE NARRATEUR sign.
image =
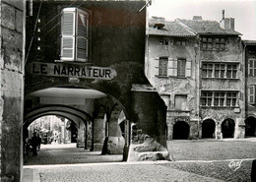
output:
[{"label": "darker right louvred shutter above the LE NARRATEUR sign", "polygon": [[88,60],[88,18],[85,11],[77,11],[77,47],[76,55],[78,61]]}]

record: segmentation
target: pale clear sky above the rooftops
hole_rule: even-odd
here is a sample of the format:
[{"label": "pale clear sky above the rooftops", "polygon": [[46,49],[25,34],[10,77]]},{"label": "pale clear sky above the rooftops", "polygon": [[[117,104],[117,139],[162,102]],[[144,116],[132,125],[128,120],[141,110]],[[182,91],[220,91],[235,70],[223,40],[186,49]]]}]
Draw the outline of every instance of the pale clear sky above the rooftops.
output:
[{"label": "pale clear sky above the rooftops", "polygon": [[256,0],[153,0],[148,7],[149,18],[167,21],[202,16],[203,20],[220,22],[223,10],[225,18],[234,18],[234,30],[242,39],[256,40]]}]

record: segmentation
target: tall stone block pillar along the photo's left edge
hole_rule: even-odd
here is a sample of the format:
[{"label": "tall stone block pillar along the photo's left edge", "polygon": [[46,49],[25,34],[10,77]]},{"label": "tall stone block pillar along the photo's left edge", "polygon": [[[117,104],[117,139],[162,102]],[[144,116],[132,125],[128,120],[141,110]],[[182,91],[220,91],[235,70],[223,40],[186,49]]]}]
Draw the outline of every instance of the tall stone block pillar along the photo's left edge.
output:
[{"label": "tall stone block pillar along the photo's left edge", "polygon": [[0,181],[21,181],[25,1],[0,1]]}]

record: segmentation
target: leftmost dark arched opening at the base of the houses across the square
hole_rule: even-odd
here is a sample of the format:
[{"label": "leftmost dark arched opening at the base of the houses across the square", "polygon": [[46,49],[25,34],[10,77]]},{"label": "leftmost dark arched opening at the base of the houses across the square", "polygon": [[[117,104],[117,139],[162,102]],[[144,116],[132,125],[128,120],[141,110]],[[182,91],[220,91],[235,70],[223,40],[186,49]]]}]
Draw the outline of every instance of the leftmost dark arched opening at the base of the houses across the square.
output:
[{"label": "leftmost dark arched opening at the base of the houses across the square", "polygon": [[173,126],[173,139],[188,139],[189,125],[185,121],[178,121]]}]

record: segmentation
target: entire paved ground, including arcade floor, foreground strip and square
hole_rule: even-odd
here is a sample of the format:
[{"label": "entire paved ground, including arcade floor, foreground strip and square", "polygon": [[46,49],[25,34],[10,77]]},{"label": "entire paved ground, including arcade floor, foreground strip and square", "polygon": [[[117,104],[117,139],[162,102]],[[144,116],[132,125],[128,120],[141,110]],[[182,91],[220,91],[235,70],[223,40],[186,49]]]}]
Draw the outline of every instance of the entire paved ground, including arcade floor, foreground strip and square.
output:
[{"label": "entire paved ground, including arcade floor, foreground strip and square", "polygon": [[[171,153],[177,161],[158,162],[122,162],[122,155],[100,155],[89,152],[75,144],[42,146],[37,156],[29,156],[24,168],[35,171],[37,181],[32,182],[158,182],[158,181],[231,181],[249,182],[252,159],[255,157],[255,141],[173,141]],[[211,149],[210,149],[211,146]],[[235,148],[237,146],[237,148]],[[238,148],[239,147],[239,148]],[[230,151],[234,149],[235,151]],[[197,149],[197,150],[196,150]],[[198,149],[203,153],[198,154]],[[208,150],[207,150],[208,149]],[[210,150],[209,150],[210,149]],[[241,151],[240,149],[243,149]],[[222,158],[216,154],[227,152],[232,158],[243,161],[238,169],[230,168],[232,159]],[[225,154],[225,155],[226,155]],[[184,156],[183,156],[184,155]],[[195,159],[199,160],[182,160]],[[248,158],[251,157],[251,158]],[[208,160],[200,160],[209,158]],[[246,159],[247,158],[247,159]],[[181,160],[180,160],[181,159]],[[239,161],[239,160],[238,160]],[[28,173],[28,172],[27,172]],[[207,177],[208,176],[208,177]],[[24,182],[29,182],[24,181]]]}]

